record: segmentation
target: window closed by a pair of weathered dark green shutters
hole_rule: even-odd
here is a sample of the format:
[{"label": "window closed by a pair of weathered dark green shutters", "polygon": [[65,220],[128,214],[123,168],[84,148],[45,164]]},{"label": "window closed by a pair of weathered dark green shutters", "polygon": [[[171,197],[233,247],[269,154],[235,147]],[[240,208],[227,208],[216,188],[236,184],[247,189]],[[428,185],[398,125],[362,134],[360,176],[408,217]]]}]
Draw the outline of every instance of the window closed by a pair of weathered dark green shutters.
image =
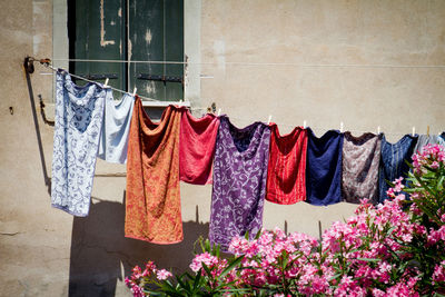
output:
[{"label": "window closed by a pair of weathered dark green shutters", "polygon": [[[182,0],[68,0],[70,59],[184,62]],[[70,71],[157,100],[184,99],[184,65],[72,61]]]}]

